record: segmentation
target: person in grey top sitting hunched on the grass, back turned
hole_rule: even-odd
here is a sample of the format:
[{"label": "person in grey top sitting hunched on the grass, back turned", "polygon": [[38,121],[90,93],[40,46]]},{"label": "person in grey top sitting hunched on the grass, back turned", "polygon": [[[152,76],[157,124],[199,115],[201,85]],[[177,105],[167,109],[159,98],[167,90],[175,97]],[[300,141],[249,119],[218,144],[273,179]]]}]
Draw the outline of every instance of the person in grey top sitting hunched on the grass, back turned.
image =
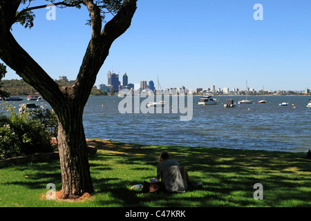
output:
[{"label": "person in grey top sitting hunched on the grass, back turned", "polygon": [[185,166],[180,166],[176,160],[169,159],[169,153],[162,152],[160,164],[157,167],[157,179],[164,189],[171,193],[184,193],[189,184],[189,176]]}]

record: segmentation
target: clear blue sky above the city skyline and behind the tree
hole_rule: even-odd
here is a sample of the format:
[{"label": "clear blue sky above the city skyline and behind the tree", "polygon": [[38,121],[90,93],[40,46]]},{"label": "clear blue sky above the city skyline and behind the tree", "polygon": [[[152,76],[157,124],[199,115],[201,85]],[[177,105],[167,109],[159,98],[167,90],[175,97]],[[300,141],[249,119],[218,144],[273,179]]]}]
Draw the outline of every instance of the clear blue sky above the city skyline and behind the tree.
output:
[{"label": "clear blue sky above the city skyline and behind the tree", "polygon": [[[45,1],[37,0],[35,5]],[[253,18],[263,6],[263,20]],[[75,79],[91,37],[88,11],[35,10],[35,26],[13,35],[53,78]],[[132,25],[111,47],[97,75],[129,76],[129,83],[157,81],[162,88],[229,87],[259,90],[311,88],[310,0],[138,0]],[[19,79],[8,68],[5,79]]]}]

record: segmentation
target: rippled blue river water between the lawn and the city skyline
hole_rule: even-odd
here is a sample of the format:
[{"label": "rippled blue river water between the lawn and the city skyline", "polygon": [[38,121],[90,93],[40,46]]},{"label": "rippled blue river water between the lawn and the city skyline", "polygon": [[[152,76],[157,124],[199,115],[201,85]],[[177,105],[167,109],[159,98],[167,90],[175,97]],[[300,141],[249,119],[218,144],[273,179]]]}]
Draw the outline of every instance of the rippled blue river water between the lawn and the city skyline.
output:
[{"label": "rippled blue river water between the lawn and the city skyline", "polygon": [[[133,97],[134,106],[135,96],[130,97]],[[219,99],[218,104],[199,106],[199,96],[192,97],[193,102],[189,103],[186,97],[187,109],[184,108],[183,111],[188,111],[187,113],[177,109],[180,103],[177,96],[165,98],[169,100],[169,113],[142,113],[143,110],[135,111],[134,108],[131,111],[130,106],[129,113],[120,113],[119,104],[125,98],[89,97],[84,108],[86,138],[206,148],[292,152],[311,149],[311,108],[306,107],[311,96],[265,96],[265,104],[257,103],[263,98],[260,96],[247,97],[254,101],[253,104],[238,104],[239,99],[245,98],[241,96],[214,98]],[[229,98],[234,99],[236,108],[223,107],[225,100]],[[145,98],[140,99],[140,102],[144,101]],[[289,105],[279,106],[281,102],[289,102]],[[22,102],[8,102],[17,108],[21,103],[26,103],[26,99]],[[46,105],[46,102],[33,103]],[[139,104],[138,102],[138,106]],[[123,108],[124,110],[126,109]],[[185,115],[190,116],[190,120],[180,120],[180,116]]]}]

